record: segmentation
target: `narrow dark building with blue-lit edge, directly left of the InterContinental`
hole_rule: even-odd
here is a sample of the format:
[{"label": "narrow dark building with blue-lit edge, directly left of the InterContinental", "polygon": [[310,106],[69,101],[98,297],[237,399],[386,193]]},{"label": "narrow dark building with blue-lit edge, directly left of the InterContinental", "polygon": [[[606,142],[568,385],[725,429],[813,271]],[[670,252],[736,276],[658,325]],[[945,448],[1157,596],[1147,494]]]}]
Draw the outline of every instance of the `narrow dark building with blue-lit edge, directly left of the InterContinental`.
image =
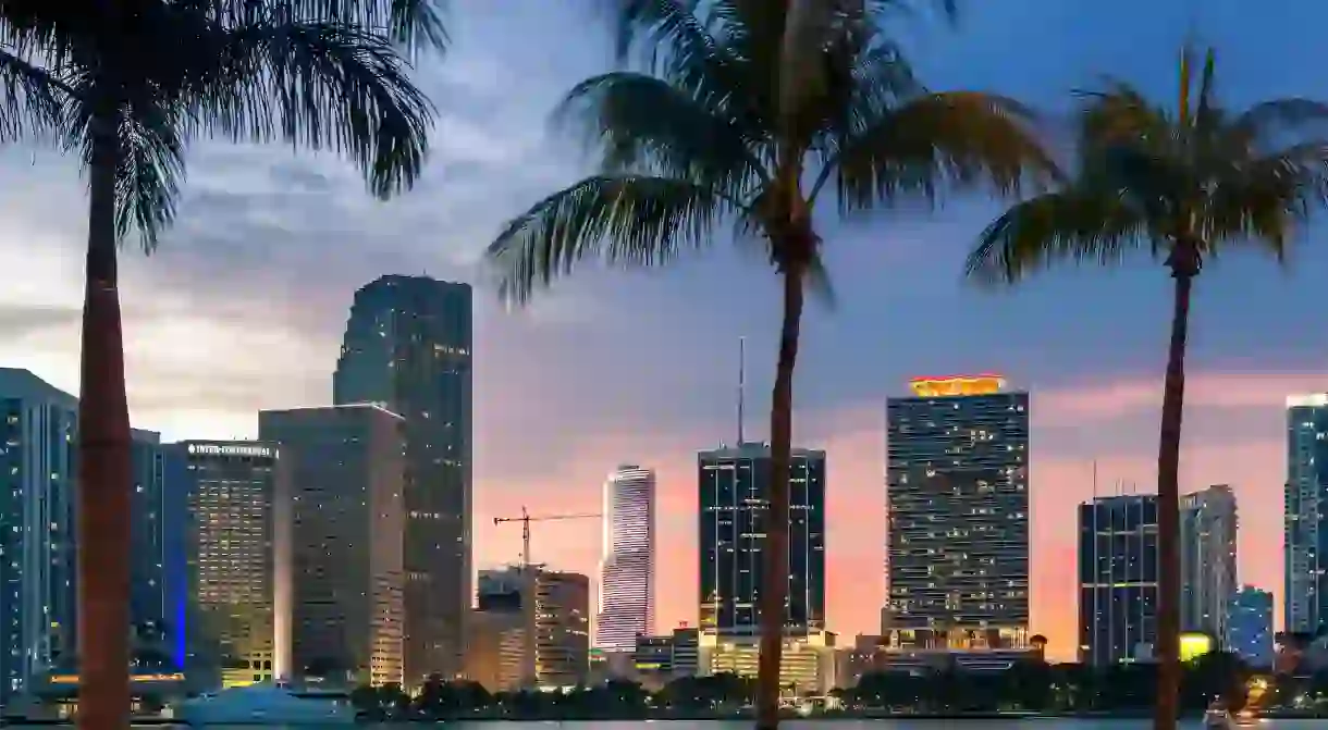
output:
[{"label": "narrow dark building with blue-lit edge, directly left of the InterContinental", "polygon": [[[167,644],[179,649],[185,629],[183,585],[178,584],[178,593],[173,596],[167,576],[173,564],[177,575],[183,571],[185,556],[178,539],[186,519],[185,502],[166,488],[161,434],[134,429],[130,450],[134,486],[129,522],[129,617],[135,630],[165,634]],[[183,653],[177,650],[171,658],[179,664]]]}]

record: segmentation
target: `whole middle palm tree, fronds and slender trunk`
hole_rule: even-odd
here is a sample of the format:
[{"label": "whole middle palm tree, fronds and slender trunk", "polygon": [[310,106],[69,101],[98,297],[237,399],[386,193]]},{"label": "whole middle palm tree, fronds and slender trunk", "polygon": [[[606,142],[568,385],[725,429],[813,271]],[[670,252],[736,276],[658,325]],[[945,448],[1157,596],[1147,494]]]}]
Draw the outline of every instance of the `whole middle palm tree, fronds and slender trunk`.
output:
[{"label": "whole middle palm tree, fronds and slender trunk", "polygon": [[[489,248],[502,296],[525,303],[584,259],[652,267],[709,246],[721,223],[758,240],[782,279],[770,409],[758,726],[778,722],[788,596],[793,370],[805,292],[826,291],[813,211],[851,218],[950,183],[1011,191],[1053,170],[1020,105],[930,93],[884,36],[896,1],[619,0],[623,70],[578,84],[558,118],[580,122],[600,171],[514,218]],[[818,13],[830,11],[829,20]],[[786,38],[790,42],[785,42]],[[810,76],[781,69],[810,68]],[[803,65],[805,64],[805,65]],[[785,82],[789,77],[790,82]]]}]

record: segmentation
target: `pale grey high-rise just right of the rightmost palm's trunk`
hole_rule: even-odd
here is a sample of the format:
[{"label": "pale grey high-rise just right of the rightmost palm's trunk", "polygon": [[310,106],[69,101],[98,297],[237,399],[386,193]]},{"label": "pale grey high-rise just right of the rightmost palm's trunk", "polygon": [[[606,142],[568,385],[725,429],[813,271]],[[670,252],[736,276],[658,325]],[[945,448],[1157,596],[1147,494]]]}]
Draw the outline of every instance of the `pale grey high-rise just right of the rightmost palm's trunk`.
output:
[{"label": "pale grey high-rise just right of the rightmost palm's trunk", "polygon": [[1218,641],[1236,587],[1236,495],[1216,484],[1181,498],[1181,629]]}]

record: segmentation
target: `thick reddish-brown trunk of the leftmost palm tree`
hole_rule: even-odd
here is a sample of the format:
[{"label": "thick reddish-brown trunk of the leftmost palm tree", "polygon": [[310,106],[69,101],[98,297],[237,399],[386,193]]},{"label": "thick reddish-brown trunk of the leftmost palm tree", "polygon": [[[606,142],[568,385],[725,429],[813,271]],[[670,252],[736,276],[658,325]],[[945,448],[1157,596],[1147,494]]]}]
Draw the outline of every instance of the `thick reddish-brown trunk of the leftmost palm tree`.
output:
[{"label": "thick reddish-brown trunk of the leftmost palm tree", "polygon": [[130,431],[116,261],[114,117],[92,122],[78,401],[78,727],[129,725]]}]

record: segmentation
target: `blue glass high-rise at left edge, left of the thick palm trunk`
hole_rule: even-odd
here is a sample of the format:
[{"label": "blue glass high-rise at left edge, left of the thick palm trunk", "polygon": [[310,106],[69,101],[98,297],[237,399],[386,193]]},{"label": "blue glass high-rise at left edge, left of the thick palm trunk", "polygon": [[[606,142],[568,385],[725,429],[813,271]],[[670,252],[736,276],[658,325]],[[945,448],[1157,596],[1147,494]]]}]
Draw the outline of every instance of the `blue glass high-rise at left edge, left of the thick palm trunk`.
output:
[{"label": "blue glass high-rise at left edge, left of the thick palm trunk", "polygon": [[76,657],[77,423],[73,396],[0,368],[0,703]]}]

